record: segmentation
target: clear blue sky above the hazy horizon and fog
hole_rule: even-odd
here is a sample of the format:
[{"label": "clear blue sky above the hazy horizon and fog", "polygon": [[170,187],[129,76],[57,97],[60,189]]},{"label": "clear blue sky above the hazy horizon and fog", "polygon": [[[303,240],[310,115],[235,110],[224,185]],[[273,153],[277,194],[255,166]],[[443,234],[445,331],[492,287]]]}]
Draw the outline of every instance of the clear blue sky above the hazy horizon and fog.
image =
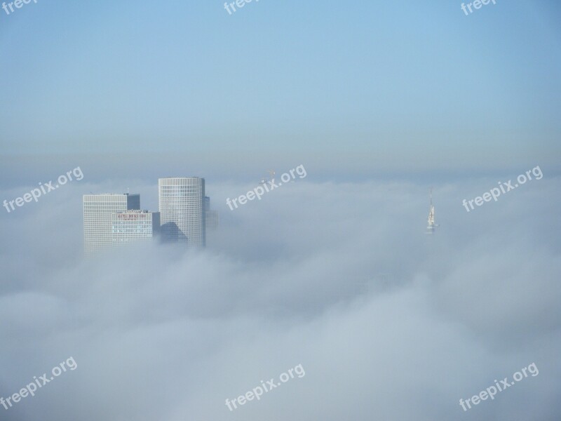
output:
[{"label": "clear blue sky above the hazy horizon and fog", "polygon": [[260,0],[229,15],[223,1],[38,0],[0,11],[1,153],[554,165],[561,6],[498,0],[466,16],[460,4]]}]

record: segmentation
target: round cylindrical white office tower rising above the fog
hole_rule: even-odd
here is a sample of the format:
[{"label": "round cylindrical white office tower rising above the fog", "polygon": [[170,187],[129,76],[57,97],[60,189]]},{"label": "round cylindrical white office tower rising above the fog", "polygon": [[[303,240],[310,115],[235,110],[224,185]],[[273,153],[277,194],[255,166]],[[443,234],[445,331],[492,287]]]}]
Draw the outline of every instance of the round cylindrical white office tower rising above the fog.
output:
[{"label": "round cylindrical white office tower rising above the fog", "polygon": [[204,247],[205,179],[159,178],[158,196],[163,240]]}]

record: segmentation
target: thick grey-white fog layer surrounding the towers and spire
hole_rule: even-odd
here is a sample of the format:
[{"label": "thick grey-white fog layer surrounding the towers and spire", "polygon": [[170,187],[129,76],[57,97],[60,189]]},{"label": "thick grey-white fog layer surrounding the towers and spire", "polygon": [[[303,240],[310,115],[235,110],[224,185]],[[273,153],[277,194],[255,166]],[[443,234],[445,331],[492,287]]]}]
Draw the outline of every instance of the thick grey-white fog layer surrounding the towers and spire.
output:
[{"label": "thick grey-white fog layer surrounding the towers and spire", "polygon": [[[297,180],[229,210],[252,185],[208,185],[208,248],[81,257],[87,179],[0,224],[0,396],[73,356],[78,368],[7,421],[554,420],[561,361],[559,179],[470,213],[496,180],[426,186]],[[154,185],[130,186],[154,208]],[[2,191],[12,199],[24,191]],[[144,199],[146,198],[146,200]],[[459,406],[535,362],[467,413]],[[302,363],[296,378],[234,399]]]}]

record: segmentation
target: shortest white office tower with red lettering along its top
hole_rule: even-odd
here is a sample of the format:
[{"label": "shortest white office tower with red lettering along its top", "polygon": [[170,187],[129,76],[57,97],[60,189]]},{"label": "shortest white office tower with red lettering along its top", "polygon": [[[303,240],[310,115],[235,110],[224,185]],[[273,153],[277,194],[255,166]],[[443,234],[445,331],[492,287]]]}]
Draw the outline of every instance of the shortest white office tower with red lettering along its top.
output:
[{"label": "shortest white office tower with red lettering along its top", "polygon": [[133,241],[151,241],[160,233],[160,213],[148,210],[126,210],[111,215],[113,245]]}]

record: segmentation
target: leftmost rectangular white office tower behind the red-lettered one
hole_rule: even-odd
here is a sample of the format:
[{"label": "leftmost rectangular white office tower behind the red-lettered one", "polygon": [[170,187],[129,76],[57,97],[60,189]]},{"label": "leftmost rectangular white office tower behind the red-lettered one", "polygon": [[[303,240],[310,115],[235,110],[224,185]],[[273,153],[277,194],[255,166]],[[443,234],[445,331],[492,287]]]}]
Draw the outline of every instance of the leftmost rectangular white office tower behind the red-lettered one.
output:
[{"label": "leftmost rectangular white office tower behind the red-lettered one", "polygon": [[140,194],[84,194],[83,195],[83,248],[93,254],[113,242],[114,213],[140,210]]}]

